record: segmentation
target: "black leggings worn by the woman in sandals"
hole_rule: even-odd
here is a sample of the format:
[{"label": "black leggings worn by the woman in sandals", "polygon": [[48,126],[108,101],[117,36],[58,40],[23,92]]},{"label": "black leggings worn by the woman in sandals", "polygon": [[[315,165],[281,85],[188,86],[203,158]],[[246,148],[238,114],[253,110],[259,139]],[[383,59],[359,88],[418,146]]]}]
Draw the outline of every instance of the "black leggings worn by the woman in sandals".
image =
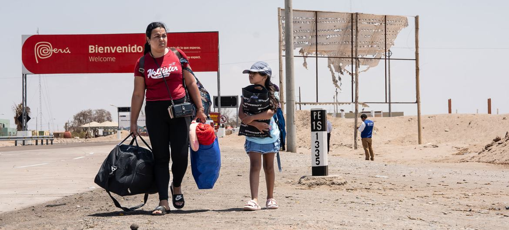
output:
[{"label": "black leggings worn by the woman in sandals", "polygon": [[[183,101],[184,98],[181,98],[174,100],[174,103]],[[168,200],[170,148],[174,187],[180,187],[187,170],[191,117],[169,118],[167,109],[170,105],[172,105],[171,101],[148,101],[145,105],[147,132],[154,154],[154,174],[159,200]]]}]

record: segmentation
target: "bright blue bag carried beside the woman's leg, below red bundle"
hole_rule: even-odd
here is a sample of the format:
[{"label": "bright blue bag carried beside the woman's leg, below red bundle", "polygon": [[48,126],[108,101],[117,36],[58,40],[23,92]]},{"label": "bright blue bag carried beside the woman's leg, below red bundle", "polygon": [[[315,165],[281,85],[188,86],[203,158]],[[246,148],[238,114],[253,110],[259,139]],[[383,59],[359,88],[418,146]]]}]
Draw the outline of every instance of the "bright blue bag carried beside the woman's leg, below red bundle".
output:
[{"label": "bright blue bag carried beside the woman's leg, below red bundle", "polygon": [[221,151],[217,138],[210,145],[200,145],[198,151],[191,151],[191,172],[199,189],[214,187],[221,169]]}]

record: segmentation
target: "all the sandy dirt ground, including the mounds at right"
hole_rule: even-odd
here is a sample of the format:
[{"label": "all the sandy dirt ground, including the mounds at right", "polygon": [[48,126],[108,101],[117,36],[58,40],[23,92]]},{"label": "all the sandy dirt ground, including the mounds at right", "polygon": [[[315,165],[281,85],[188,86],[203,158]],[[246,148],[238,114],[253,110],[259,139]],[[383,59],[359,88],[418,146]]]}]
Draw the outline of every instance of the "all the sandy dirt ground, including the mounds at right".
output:
[{"label": "all the sandy dirt ground, including the mounds at right", "polygon": [[[334,128],[329,174],[347,183],[307,187],[298,181],[311,172],[309,111],[298,111],[300,147],[296,153],[281,152],[277,210],[242,211],[249,200],[249,160],[244,138],[231,135],[220,139],[222,167],[213,189],[197,189],[188,168],[182,210],[172,207],[165,216],[151,216],[157,206],[157,195],[151,195],[139,211],[121,212],[103,189],[95,189],[2,213],[0,229],[129,229],[133,223],[138,229],[508,229],[509,162],[493,161],[509,155],[507,116],[423,116],[423,145],[417,145],[416,117],[374,118],[375,161],[365,161],[360,147],[353,149],[353,120],[329,118]],[[500,144],[476,159],[496,136]],[[487,158],[496,164],[485,163]],[[262,171],[263,208],[265,196]],[[119,201],[134,206],[142,199]]]}]

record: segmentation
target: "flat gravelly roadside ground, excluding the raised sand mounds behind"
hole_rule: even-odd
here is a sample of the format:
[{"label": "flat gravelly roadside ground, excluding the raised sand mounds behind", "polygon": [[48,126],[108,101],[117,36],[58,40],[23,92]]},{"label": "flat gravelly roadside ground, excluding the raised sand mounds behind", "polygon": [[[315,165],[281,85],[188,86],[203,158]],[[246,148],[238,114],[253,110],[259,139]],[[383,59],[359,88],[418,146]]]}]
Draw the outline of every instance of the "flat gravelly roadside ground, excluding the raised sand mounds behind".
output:
[{"label": "flat gravelly roadside ground, excluding the raised sand mounds behind", "polygon": [[[240,139],[242,140],[242,139]],[[425,150],[404,151],[418,155]],[[433,148],[438,151],[439,148]],[[284,171],[276,173],[275,198],[280,209],[243,212],[249,199],[248,158],[237,137],[221,139],[222,168],[214,189],[198,190],[189,172],[184,179],[186,207],[156,217],[151,196],[145,207],[120,212],[102,189],[66,196],[49,203],[0,214],[0,229],[139,229],[167,228],[342,228],[342,229],[506,229],[509,226],[509,168],[484,163],[384,162],[358,159],[361,150],[334,149],[330,174],[343,176],[342,186],[299,185],[310,173],[307,149],[282,153]],[[403,151],[403,150],[402,150]],[[431,153],[430,153],[431,154]],[[95,174],[95,172],[91,172]],[[260,198],[265,196],[263,173]],[[142,196],[121,198],[139,204]],[[262,202],[263,203],[263,202]],[[64,204],[55,207],[47,205]],[[264,206],[264,204],[262,204]]]}]

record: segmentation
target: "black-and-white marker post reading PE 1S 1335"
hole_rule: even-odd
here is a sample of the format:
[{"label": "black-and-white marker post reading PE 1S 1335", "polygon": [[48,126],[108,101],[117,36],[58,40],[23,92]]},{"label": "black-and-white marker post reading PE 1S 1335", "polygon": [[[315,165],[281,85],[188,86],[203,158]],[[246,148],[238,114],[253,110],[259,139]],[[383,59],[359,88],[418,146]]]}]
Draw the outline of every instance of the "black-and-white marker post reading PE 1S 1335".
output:
[{"label": "black-and-white marker post reading PE 1S 1335", "polygon": [[311,171],[312,176],[328,176],[327,110],[311,109]]}]

